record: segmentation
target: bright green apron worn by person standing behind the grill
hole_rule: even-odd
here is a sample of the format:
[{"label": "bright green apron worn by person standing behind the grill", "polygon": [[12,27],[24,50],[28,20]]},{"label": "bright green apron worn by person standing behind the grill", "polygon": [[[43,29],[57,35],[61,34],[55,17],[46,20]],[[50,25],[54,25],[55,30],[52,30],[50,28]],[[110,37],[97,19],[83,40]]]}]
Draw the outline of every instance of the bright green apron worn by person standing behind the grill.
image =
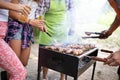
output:
[{"label": "bright green apron worn by person standing behind the grill", "polygon": [[68,27],[66,21],[66,5],[65,0],[50,0],[50,8],[45,13],[44,19],[50,37],[45,32],[39,34],[39,44],[51,45],[57,42],[67,40]]}]

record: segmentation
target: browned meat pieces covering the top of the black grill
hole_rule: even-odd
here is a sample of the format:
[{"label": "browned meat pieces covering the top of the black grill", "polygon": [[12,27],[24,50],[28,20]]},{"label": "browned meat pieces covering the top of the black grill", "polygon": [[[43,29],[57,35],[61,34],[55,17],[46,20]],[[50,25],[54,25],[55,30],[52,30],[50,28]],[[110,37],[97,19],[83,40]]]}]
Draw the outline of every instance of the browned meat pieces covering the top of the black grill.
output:
[{"label": "browned meat pieces covering the top of the black grill", "polygon": [[68,45],[51,45],[45,46],[46,49],[58,51],[59,53],[81,55],[83,52],[95,48],[92,44],[68,44]]}]

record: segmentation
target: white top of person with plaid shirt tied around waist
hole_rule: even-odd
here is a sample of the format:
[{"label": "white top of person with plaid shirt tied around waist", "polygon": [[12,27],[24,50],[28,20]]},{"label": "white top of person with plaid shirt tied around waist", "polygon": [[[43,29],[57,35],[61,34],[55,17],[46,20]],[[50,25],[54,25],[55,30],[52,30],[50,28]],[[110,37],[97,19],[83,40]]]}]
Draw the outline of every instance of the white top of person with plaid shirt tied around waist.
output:
[{"label": "white top of person with plaid shirt tied around waist", "polygon": [[28,18],[35,19],[35,11],[38,7],[38,3],[33,0],[20,0],[20,3],[30,6],[31,11],[30,11]]}]

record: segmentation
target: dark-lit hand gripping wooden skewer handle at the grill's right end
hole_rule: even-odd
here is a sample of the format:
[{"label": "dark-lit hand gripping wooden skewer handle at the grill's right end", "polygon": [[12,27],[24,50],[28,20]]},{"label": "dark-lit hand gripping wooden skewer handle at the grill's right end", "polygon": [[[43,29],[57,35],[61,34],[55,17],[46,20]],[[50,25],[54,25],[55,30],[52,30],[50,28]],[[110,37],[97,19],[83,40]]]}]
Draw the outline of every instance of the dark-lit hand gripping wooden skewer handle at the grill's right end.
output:
[{"label": "dark-lit hand gripping wooden skewer handle at the grill's right end", "polygon": [[115,53],[109,55],[107,61],[104,64],[108,64],[109,66],[119,66],[120,65],[120,51],[116,51]]}]

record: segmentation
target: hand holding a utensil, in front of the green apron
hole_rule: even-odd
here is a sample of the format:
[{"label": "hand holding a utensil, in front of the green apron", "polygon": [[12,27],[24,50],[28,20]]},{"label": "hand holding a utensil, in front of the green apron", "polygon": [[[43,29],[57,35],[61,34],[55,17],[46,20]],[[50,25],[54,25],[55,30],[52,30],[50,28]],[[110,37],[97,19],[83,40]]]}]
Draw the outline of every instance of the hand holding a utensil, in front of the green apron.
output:
[{"label": "hand holding a utensil, in front of the green apron", "polygon": [[29,24],[31,24],[32,26],[38,27],[40,31],[47,32],[46,26],[44,24],[44,20],[31,19],[29,21]]}]

